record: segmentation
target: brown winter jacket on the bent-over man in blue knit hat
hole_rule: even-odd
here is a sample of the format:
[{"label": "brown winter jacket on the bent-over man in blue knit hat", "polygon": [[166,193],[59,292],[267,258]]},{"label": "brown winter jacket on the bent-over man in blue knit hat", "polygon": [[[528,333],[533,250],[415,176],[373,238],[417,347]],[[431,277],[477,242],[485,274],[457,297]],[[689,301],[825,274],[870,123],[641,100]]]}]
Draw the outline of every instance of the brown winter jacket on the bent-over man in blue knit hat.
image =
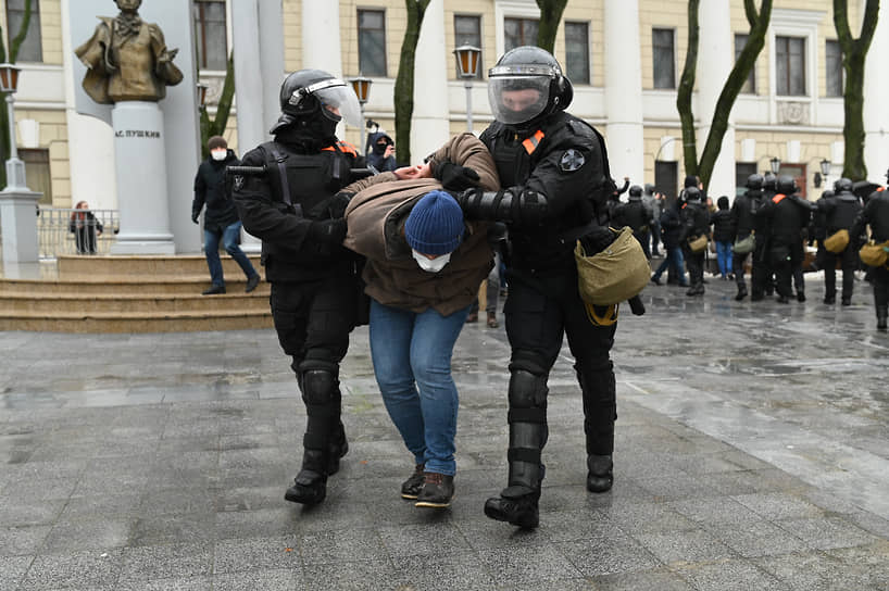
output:
[{"label": "brown winter jacket on the bent-over man in blue knit hat", "polygon": [[[475,169],[485,190],[500,188],[497,167],[485,144],[461,134],[430,156],[433,167],[450,161]],[[377,302],[411,312],[435,309],[449,316],[469,305],[491,269],[493,254],[485,222],[466,223],[463,241],[439,273],[421,269],[404,239],[404,222],[414,204],[441,189],[435,178],[398,180],[392,173],[359,180],[345,191],[355,192],[346,209],[347,248],[367,257],[365,292]]]}]

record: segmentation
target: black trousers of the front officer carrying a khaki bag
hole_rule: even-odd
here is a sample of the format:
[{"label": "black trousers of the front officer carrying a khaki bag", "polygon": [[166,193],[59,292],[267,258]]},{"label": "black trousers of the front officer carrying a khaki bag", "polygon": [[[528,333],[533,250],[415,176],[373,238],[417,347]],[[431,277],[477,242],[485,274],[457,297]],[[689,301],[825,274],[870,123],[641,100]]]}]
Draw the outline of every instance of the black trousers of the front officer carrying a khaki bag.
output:
[{"label": "black trousers of the front officer carrying a khaki bag", "polygon": [[[510,291],[503,312],[512,348],[510,369],[538,366],[546,380],[559,357],[563,336],[567,335],[583,391],[587,454],[611,454],[617,413],[614,365],[609,353],[614,344],[616,323],[596,326],[590,322],[580,300],[577,269],[573,264],[561,273],[548,272],[542,277],[531,271],[508,269],[506,277]],[[546,391],[543,388],[543,397]],[[546,401],[542,407],[546,408]],[[544,444],[546,436],[540,440],[541,450]]]}]

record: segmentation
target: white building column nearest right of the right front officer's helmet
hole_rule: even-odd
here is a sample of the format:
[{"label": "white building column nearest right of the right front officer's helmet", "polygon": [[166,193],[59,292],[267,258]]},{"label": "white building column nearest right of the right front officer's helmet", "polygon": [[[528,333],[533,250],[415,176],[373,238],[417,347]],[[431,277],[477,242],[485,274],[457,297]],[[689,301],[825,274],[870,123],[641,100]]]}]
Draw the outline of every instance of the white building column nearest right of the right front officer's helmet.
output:
[{"label": "white building column nearest right of the right front officer's helmet", "polygon": [[605,113],[611,174],[643,183],[639,0],[605,0]]}]

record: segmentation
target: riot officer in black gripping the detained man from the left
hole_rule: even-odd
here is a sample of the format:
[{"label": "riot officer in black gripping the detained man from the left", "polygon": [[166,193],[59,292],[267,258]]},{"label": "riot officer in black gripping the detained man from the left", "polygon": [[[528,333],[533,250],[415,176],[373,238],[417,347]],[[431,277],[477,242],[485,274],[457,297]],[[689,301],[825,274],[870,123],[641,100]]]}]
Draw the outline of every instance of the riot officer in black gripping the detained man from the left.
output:
[{"label": "riot officer in black gripping the detained man from the left", "polygon": [[361,111],[351,88],[320,70],[290,74],[280,109],[274,141],[242,161],[265,174],[236,176],[234,197],[243,227],[262,239],[275,330],[305,403],[302,468],[285,499],[315,504],[348,450],[339,363],[355,323],[358,269],[355,255],[341,246],[348,200],[338,191],[359,156],[335,134],[343,118],[361,125]]}]

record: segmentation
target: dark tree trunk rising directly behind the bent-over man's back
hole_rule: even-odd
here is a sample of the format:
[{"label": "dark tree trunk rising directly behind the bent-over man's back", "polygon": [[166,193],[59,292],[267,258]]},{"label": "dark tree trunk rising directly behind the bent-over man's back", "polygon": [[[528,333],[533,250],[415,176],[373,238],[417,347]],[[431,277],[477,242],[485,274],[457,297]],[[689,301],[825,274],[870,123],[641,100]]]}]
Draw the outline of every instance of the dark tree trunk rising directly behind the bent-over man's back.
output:
[{"label": "dark tree trunk rising directly behind the bent-over man's back", "polygon": [[408,9],[408,28],[401,42],[401,59],[396,76],[396,160],[411,162],[411,118],[414,115],[414,64],[416,43],[420,41],[420,29],[423,15],[430,0],[405,0]]}]

